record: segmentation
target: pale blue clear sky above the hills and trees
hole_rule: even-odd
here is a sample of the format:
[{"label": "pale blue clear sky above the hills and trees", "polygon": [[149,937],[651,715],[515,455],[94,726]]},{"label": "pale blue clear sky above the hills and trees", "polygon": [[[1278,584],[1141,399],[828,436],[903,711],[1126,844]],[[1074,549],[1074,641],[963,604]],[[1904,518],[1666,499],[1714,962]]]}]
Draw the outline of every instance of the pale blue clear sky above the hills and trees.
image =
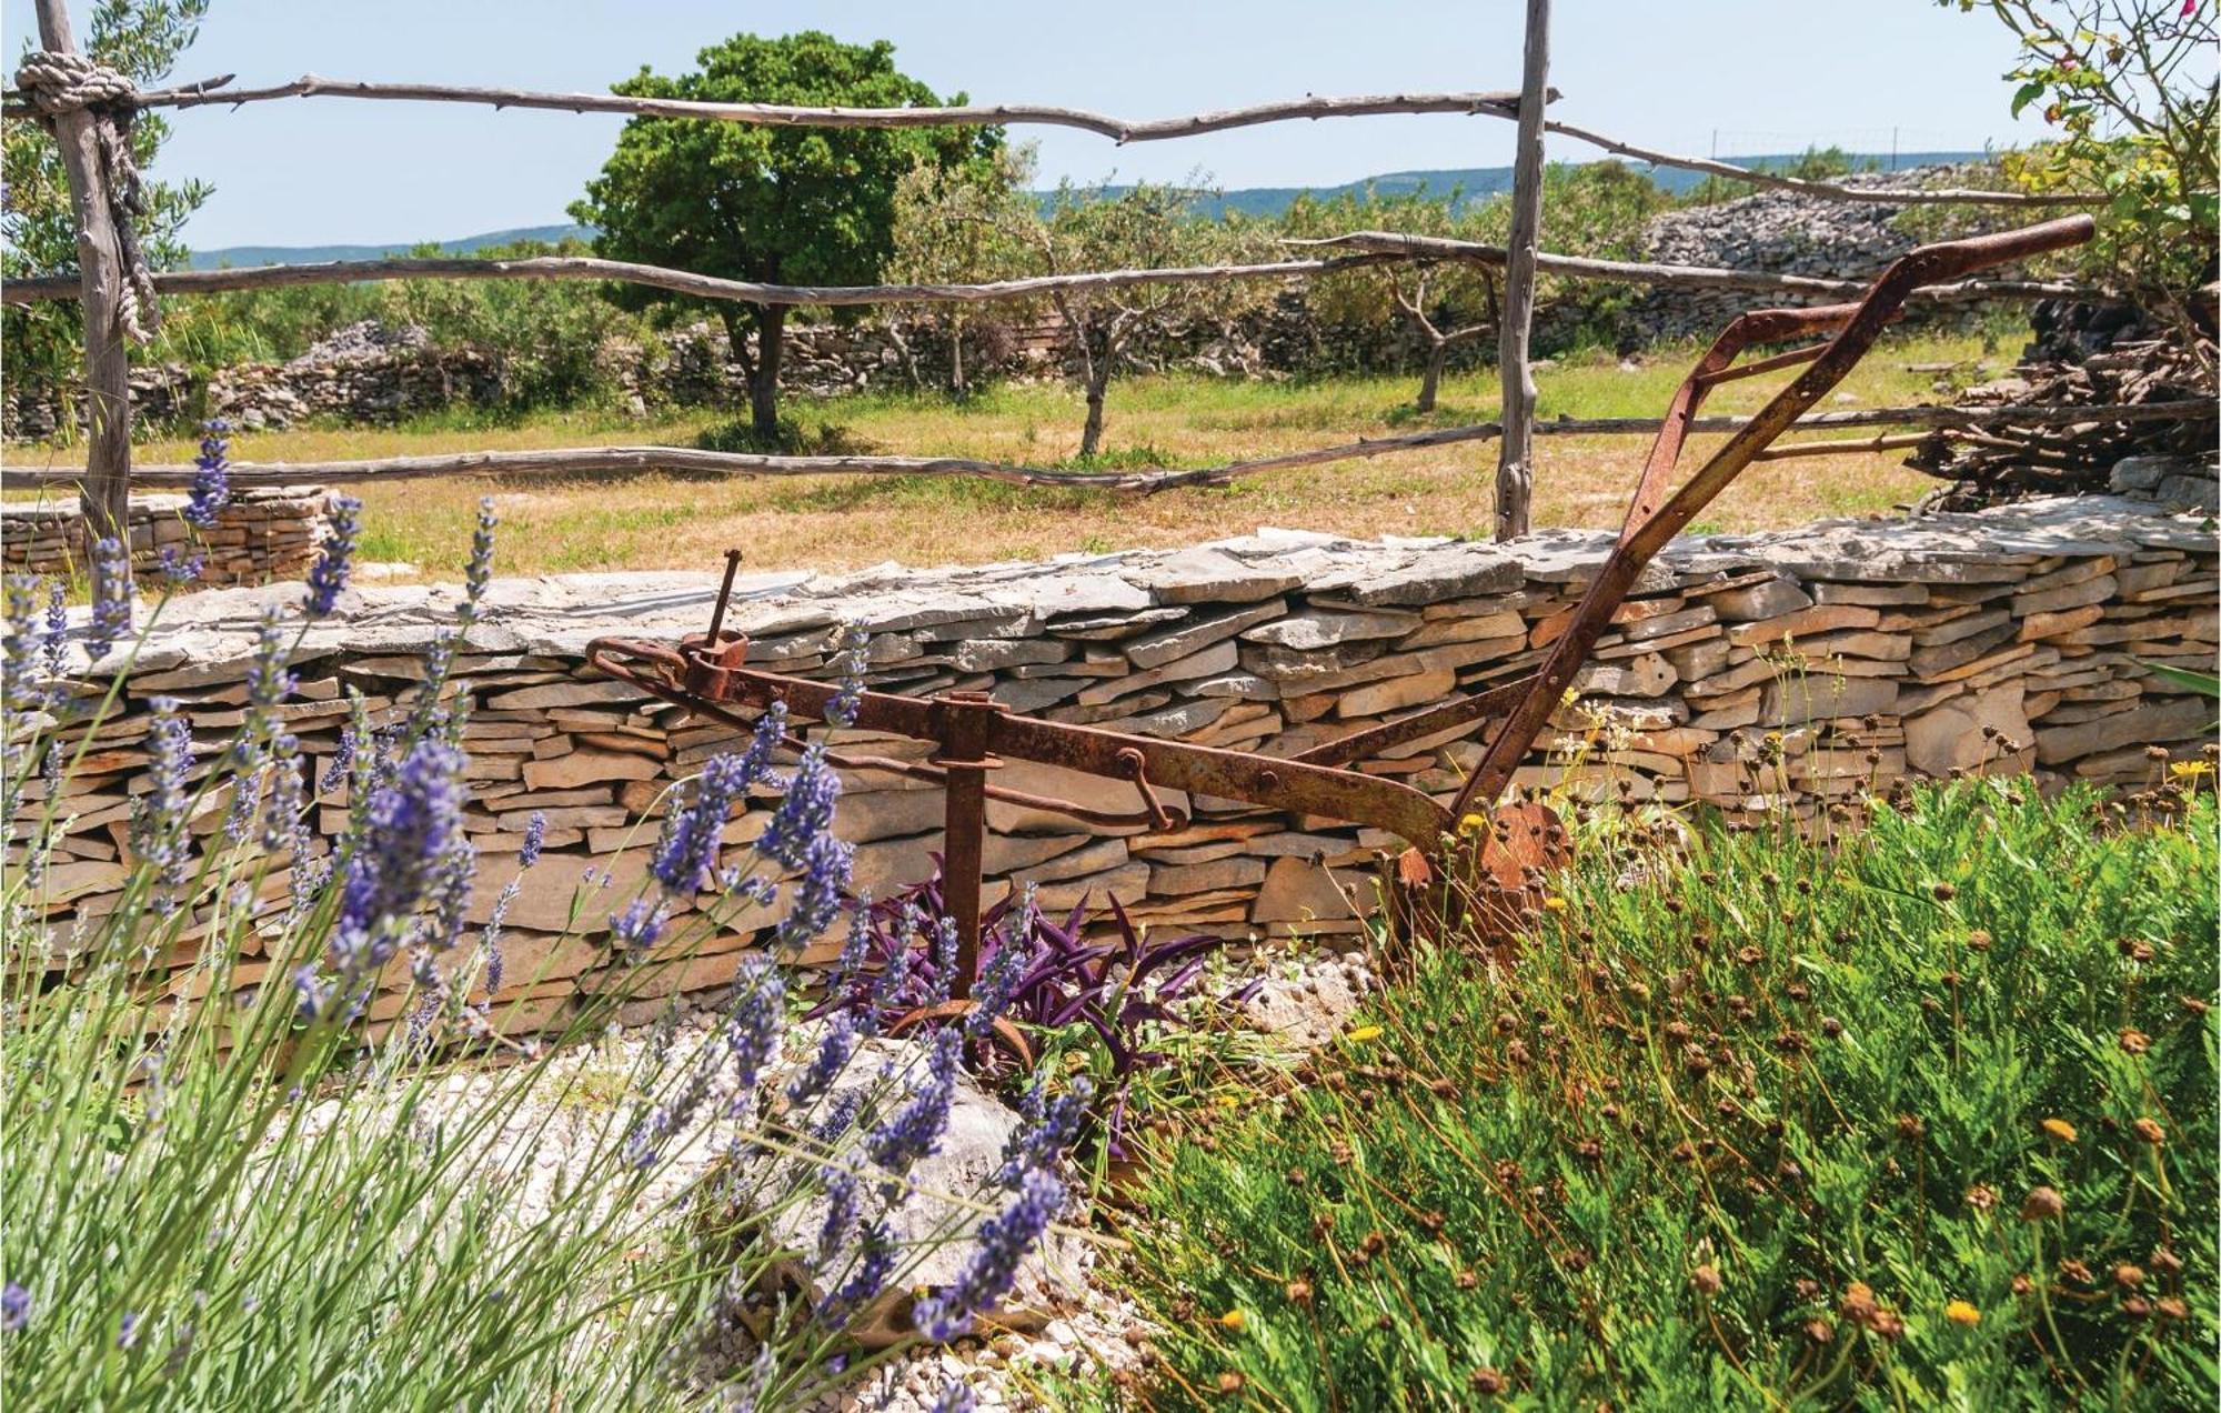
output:
[{"label": "pale blue clear sky above the hills and trees", "polygon": [[[87,0],[71,7],[84,24]],[[1559,0],[1552,116],[1679,153],[1841,144],[1903,151],[2014,144],[2012,40],[1934,0]],[[673,73],[735,31],[886,38],[937,93],[1053,102],[1124,118],[1299,98],[1517,89],[1521,0],[213,0],[175,82],[238,73],[515,89],[606,89]],[[7,53],[31,0],[0,0]],[[9,64],[13,69],[13,62]],[[622,118],[340,98],[171,116],[158,176],[215,184],[191,247],[449,240],[569,220]],[[1513,124],[1395,116],[1284,122],[1119,149],[1068,129],[1039,142],[1044,184],[1177,180],[1330,187],[1381,171],[1501,167]],[[1552,140],[1552,158],[1595,149]]]}]

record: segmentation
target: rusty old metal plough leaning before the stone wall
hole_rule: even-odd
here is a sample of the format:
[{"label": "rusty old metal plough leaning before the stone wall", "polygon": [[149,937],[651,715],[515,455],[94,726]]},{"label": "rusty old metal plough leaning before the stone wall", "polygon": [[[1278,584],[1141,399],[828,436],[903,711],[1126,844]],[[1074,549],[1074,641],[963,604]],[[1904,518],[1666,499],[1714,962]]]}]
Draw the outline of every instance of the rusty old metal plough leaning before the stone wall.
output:
[{"label": "rusty old metal plough leaning before the stone wall", "polygon": [[[1688,529],[1690,520],[1759,451],[1857,367],[1915,289],[1959,280],[1990,264],[2081,244],[2090,240],[2092,231],[2094,224],[2088,216],[2070,216],[2021,231],[1921,247],[1890,264],[1857,304],[1766,309],[1730,322],[1675,389],[1666,424],[1644,462],[1619,538],[1575,607],[1564,635],[1530,678],[1477,695],[1453,698],[1290,758],[1051,722],[1008,711],[982,691],[951,691],[937,698],[851,693],[855,726],[935,744],[933,758],[924,764],[840,751],[826,751],[826,760],[840,769],[888,771],[935,782],[946,791],[942,820],[946,831],[944,898],[957,922],[957,975],[951,1004],[962,1006],[977,978],[982,849],[991,800],[1062,813],[1104,829],[1170,833],[1186,826],[1188,815],[1168,809],[1157,791],[1177,789],[1190,795],[1370,824],[1408,844],[1395,871],[1406,889],[1444,882],[1466,898],[1468,909],[1477,904],[1490,926],[1506,931],[1515,926],[1535,902],[1541,873],[1568,858],[1570,840],[1546,804],[1499,802],[1513,782],[1513,771],[1564,702],[1581,664],[1644,567],[1668,540]],[[1746,349],[1812,335],[1826,338],[1737,364]],[[1677,491],[1666,491],[1666,480],[1681,458],[1681,444],[1688,440],[1697,407],[1712,387],[1799,364],[1810,367],[1775,393]],[[764,711],[773,702],[782,702],[793,720],[826,720],[828,711],[835,711],[835,695],[840,695],[835,687],[748,667],[748,640],[726,631],[724,620],[737,569],[740,551],[728,551],[724,584],[706,633],[682,638],[677,644],[600,638],[586,649],[589,664],[651,695],[742,729],[753,724],[742,711]],[[1344,769],[1386,746],[1470,729],[1486,720],[1499,724],[1488,738],[1479,766],[1448,806],[1397,780]],[[793,738],[788,742],[800,744]],[[1075,800],[997,786],[991,775],[1004,760],[1031,760],[1128,782],[1135,786],[1139,809],[1113,813]],[[1488,813],[1479,813],[1481,809]]]}]

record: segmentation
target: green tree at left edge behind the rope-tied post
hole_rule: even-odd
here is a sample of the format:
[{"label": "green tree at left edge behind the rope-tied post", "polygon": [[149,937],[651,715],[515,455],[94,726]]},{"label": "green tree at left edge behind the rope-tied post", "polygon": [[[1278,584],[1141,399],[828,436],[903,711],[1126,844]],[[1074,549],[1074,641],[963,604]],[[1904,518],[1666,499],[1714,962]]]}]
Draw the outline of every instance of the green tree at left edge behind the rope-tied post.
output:
[{"label": "green tree at left edge behind the rope-tied post", "polygon": [[[169,76],[200,33],[209,0],[100,0],[84,29],[84,51],[149,87]],[[36,38],[22,42],[29,53]],[[151,169],[169,124],[140,113],[131,124],[131,158],[142,173],[147,216],[140,242],[155,267],[184,264],[180,231],[213,187],[200,180],[158,182]],[[78,220],[62,173],[62,153],[44,124],[11,118],[0,124],[0,275],[67,275],[78,269]],[[0,315],[9,378],[71,382],[80,375],[84,311],[73,300],[11,304]]]}]

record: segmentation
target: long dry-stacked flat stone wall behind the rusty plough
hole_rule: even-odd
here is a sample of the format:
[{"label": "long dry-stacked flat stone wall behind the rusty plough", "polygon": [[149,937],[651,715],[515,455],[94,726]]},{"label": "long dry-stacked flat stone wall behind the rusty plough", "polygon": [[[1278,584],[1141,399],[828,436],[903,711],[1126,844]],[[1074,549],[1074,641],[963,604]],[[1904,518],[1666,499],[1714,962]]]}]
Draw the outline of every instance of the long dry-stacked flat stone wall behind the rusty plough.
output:
[{"label": "long dry-stacked flat stone wall behind the rusty plough", "polygon": [[[1053,720],[1293,753],[1532,671],[1608,544],[1590,531],[1475,544],[1268,529],[1164,553],[755,575],[728,624],[775,671],[828,675],[848,622],[871,633],[868,682],[884,691],[988,689]],[[2034,771],[2046,789],[2145,782],[2148,746],[2194,755],[2212,735],[2212,702],[2145,664],[2212,669],[2214,551],[2210,520],[2108,498],[1679,540],[1637,584],[1519,784],[1812,818],[1899,778],[1952,771]],[[713,578],[695,573],[500,580],[464,638],[453,691],[471,706],[473,918],[517,873],[531,815],[546,815],[546,858],[506,933],[502,1000],[526,1018],[553,1022],[624,973],[606,918],[631,898],[653,842],[655,824],[635,822],[740,742],[731,726],[593,675],[584,647],[606,633],[700,631],[711,598]],[[267,602],[291,609],[295,598],[193,595],[142,649],[122,720],[69,786],[76,818],[49,895],[58,924],[113,906],[147,698],[180,698],[195,749],[213,760],[240,720]],[[373,718],[409,704],[455,602],[451,587],[360,591],[309,631],[284,718],[318,769],[346,722],[346,693],[362,693]],[[908,760],[931,751],[864,733],[835,740]],[[1359,769],[1448,795],[1477,753],[1473,740],[1419,740]],[[1017,760],[995,782],[1097,809],[1137,804],[1130,784]],[[991,804],[988,873],[997,891],[1037,884],[1048,906],[1115,895],[1159,929],[1333,935],[1357,931],[1350,898],[1366,895],[1375,851],[1397,846],[1333,820],[1166,798],[1193,811],[1175,835]],[[768,806],[751,800],[726,838],[753,840]],[[322,811],[335,831],[346,802],[326,795]],[[924,878],[939,818],[937,789],[851,775],[837,833],[857,846],[857,886],[884,898]],[[202,826],[220,820],[218,800]],[[591,893],[602,871],[613,884]],[[275,871],[271,895],[287,886]],[[582,933],[566,938],[582,886]],[[742,918],[706,953],[651,978],[640,1004],[728,980],[733,953],[760,940],[751,929],[771,922],[771,911]],[[398,973],[373,1020],[400,1011],[402,984]]]}]

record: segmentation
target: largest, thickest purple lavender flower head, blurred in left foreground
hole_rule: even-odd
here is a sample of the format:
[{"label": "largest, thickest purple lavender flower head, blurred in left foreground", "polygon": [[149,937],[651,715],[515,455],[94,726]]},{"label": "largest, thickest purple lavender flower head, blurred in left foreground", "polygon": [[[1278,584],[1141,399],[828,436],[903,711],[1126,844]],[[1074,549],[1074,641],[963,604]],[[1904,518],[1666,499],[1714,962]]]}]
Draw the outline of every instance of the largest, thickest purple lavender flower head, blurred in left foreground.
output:
[{"label": "largest, thickest purple lavender flower head, blurred in left foreground", "polygon": [[420,740],[391,784],[371,795],[340,884],[333,966],[358,982],[400,949],[409,920],[455,866],[462,838],[464,755],[444,740]]}]

